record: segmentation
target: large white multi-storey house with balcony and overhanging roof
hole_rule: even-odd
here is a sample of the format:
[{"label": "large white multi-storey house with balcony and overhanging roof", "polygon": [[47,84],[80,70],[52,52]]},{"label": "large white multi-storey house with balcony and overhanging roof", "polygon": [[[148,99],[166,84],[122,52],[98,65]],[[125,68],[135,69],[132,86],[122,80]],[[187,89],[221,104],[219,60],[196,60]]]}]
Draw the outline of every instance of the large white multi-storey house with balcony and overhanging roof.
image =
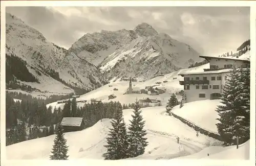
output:
[{"label": "large white multi-storey house with balcony and overhanging roof", "polygon": [[225,80],[230,74],[231,67],[236,65],[245,68],[248,67],[250,63],[250,60],[248,59],[209,56],[200,57],[209,61],[210,68],[204,69],[204,72],[179,74],[184,77],[184,81],[180,81],[180,85],[184,85],[183,103],[206,99],[219,99],[222,94]]}]

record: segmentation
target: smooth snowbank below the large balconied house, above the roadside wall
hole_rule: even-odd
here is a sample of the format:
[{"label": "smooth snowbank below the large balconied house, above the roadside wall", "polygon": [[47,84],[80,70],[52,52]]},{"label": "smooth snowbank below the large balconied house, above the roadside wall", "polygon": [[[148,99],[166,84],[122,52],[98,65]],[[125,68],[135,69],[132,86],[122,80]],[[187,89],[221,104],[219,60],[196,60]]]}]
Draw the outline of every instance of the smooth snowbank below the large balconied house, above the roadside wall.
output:
[{"label": "smooth snowbank below the large balconied house, above the roadside wall", "polygon": [[178,105],[172,112],[200,128],[218,134],[216,124],[219,115],[215,111],[218,105],[223,105],[221,100],[195,101],[185,103],[182,108]]}]

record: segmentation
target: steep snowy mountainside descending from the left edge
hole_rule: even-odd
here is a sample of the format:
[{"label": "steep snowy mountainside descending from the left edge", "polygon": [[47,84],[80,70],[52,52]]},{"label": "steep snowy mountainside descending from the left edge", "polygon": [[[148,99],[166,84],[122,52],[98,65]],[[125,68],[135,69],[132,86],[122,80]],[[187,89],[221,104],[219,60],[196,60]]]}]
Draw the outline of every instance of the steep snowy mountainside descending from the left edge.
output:
[{"label": "steep snowy mountainside descending from the left edge", "polygon": [[105,83],[96,66],[49,42],[39,31],[9,13],[6,13],[6,54],[26,61],[29,72],[40,83],[22,83],[43,91],[70,93],[74,91],[72,86],[94,89]]}]

